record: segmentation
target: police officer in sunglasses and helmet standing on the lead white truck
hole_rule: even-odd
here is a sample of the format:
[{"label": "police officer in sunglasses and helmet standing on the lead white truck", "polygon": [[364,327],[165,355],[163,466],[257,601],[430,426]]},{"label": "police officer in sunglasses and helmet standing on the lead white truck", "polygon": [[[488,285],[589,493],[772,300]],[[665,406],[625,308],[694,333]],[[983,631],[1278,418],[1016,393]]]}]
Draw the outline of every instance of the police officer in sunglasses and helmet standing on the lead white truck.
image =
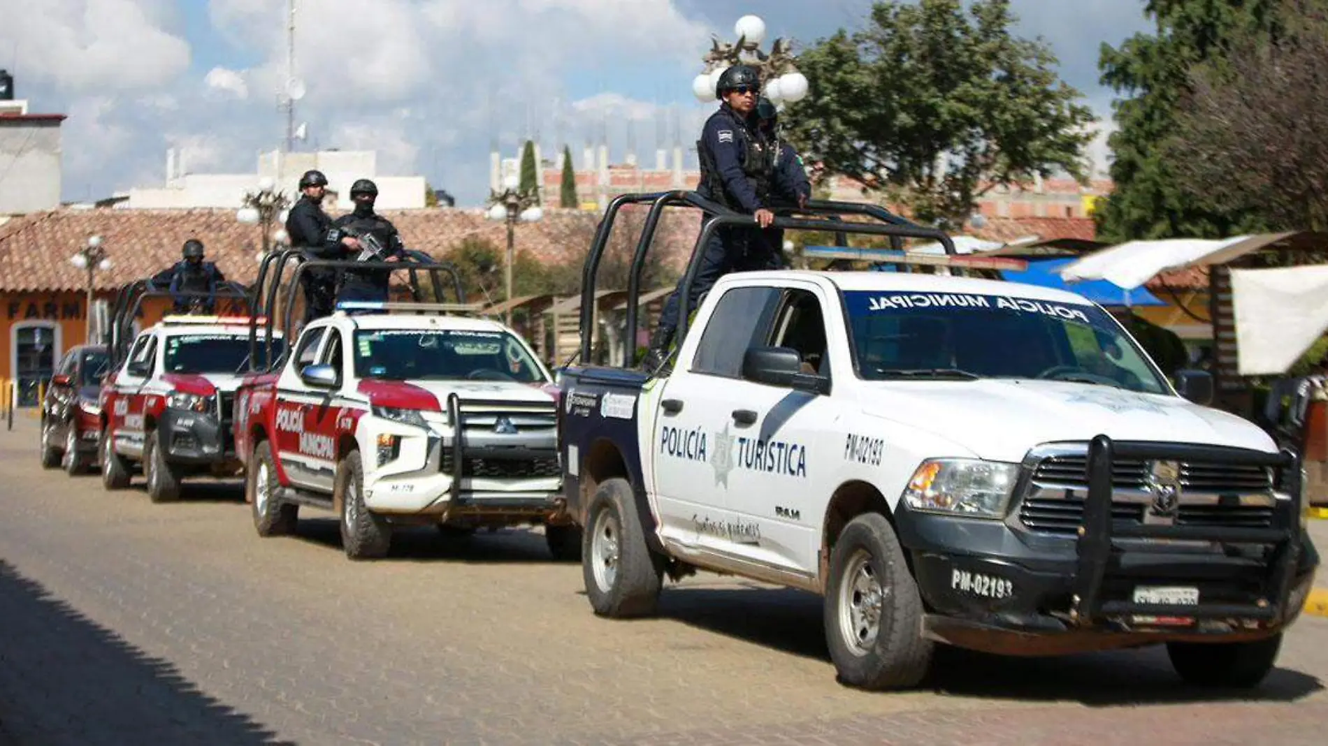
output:
[{"label": "police officer in sunglasses and helmet standing on the lead white truck", "polygon": [[[734,65],[720,76],[716,94],[722,101],[701,130],[696,153],[701,179],[696,191],[736,212],[756,218],[760,228],[774,220],[769,210],[773,182],[772,149],[756,118],[761,76],[750,65]],[[718,228],[701,247],[700,265],[692,283],[688,308],[696,309],[697,299],[728,272],[778,267],[778,256],[760,251],[764,246],[756,228],[729,226]],[[750,251],[749,251],[750,250]],[[677,329],[679,296],[683,281],[664,303],[659,328],[651,338],[645,357],[647,370],[657,369],[668,357],[673,332]]]}]

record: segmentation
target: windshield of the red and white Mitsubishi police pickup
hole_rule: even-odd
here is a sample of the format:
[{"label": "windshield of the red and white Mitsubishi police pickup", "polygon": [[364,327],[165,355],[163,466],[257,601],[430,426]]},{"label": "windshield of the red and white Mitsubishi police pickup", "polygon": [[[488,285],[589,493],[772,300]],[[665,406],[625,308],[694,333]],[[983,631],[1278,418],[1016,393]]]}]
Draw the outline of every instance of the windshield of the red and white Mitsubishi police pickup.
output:
[{"label": "windshield of the red and white Mitsubishi police pickup", "polygon": [[544,382],[517,337],[482,331],[360,329],[355,333],[355,374],[389,381]]}]

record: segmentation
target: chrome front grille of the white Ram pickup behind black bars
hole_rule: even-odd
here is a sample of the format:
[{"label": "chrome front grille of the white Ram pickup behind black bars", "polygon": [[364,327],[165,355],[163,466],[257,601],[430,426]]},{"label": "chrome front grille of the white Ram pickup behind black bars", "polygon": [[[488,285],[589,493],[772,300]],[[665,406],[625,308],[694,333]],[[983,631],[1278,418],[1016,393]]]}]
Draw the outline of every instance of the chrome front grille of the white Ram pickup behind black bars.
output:
[{"label": "chrome front grille of the white Ram pickup behind black bars", "polygon": [[[1032,531],[1076,534],[1088,499],[1088,457],[1082,450],[1042,458],[1035,454],[1025,465],[1032,469],[1020,499],[1020,522]],[[1112,518],[1116,522],[1232,528],[1266,528],[1272,524],[1276,499],[1271,469],[1182,462],[1181,504],[1170,515],[1154,512],[1153,492],[1147,486],[1149,469],[1145,461],[1113,462]]]}]

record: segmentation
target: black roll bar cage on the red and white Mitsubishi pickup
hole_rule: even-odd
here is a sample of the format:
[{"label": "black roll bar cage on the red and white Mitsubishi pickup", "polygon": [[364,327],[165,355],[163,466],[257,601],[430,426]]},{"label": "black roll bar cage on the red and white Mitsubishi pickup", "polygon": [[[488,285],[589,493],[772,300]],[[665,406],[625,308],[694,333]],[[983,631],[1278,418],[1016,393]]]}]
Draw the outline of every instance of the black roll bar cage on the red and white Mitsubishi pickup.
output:
[{"label": "black roll bar cage on the red and white Mitsubishi pickup", "polygon": [[[347,259],[308,259],[297,248],[270,252],[259,264],[258,280],[254,281],[252,303],[256,312],[250,317],[250,370],[254,373],[267,373],[275,370],[286,361],[292,345],[283,345],[282,354],[272,356],[272,331],[276,317],[282,317],[282,329],[295,328],[295,297],[300,292],[300,277],[313,269],[333,269],[336,283],[340,284],[347,269],[382,269],[388,272],[405,271],[409,276],[410,295],[417,303],[425,303],[422,288],[420,287],[420,272],[428,272],[432,279],[433,303],[444,304],[444,285],[450,284],[457,296],[457,305],[465,305],[466,291],[461,284],[461,272],[450,261],[438,261],[422,251],[408,250],[408,261],[353,261]],[[282,284],[282,275],[287,265],[295,264],[291,280]],[[450,283],[444,281],[444,275],[450,275]],[[271,285],[271,287],[268,287]],[[286,291],[284,296],[280,295]],[[284,303],[283,303],[284,301]],[[263,325],[263,364],[259,364],[258,328]]]}]

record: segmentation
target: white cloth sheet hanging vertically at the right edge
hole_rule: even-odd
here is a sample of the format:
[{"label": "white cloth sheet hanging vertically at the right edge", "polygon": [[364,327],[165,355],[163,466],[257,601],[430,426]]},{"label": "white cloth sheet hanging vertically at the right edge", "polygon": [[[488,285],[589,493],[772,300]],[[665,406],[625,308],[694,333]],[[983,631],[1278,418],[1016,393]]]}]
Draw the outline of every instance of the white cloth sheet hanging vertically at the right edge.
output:
[{"label": "white cloth sheet hanging vertically at the right edge", "polygon": [[1328,328],[1328,265],[1232,269],[1242,376],[1286,373]]}]

